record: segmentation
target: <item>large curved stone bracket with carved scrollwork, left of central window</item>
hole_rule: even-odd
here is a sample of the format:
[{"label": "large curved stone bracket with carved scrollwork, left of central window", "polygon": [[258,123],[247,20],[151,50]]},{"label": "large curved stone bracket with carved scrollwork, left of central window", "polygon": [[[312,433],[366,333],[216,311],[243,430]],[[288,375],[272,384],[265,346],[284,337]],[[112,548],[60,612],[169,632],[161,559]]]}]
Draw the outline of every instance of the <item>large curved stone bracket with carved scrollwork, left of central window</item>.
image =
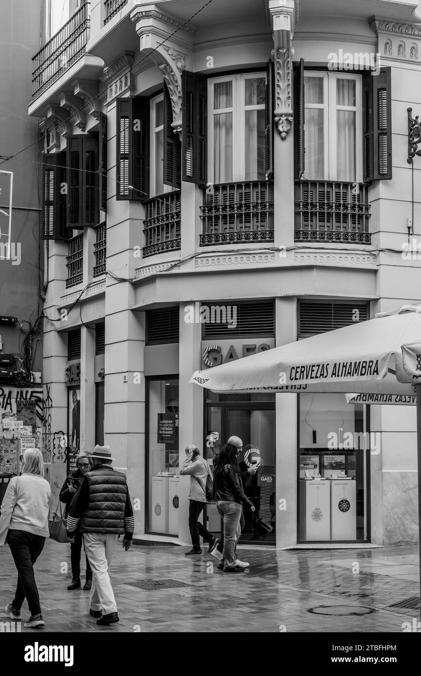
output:
[{"label": "large curved stone bracket with carved scrollwork, left of central window", "polygon": [[[197,31],[192,26],[184,25],[179,20],[158,11],[153,5],[149,5],[145,11],[135,11],[131,19],[136,24],[136,32],[141,40],[141,53],[149,55],[162,71],[170,94],[172,129],[181,139],[181,74],[187,68],[187,60],[191,59],[192,37]],[[174,28],[179,30],[172,36]],[[166,43],[163,43],[164,40]]]}]

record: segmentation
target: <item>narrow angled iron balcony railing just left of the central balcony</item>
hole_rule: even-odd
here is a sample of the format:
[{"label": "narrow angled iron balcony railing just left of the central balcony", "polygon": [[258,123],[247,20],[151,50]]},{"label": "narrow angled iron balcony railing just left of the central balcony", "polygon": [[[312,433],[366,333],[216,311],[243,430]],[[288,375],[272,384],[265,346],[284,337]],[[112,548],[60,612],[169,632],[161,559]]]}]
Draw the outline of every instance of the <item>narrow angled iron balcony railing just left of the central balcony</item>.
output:
[{"label": "narrow angled iron balcony railing just left of the central balcony", "polygon": [[180,190],[145,201],[143,258],[181,249]]}]

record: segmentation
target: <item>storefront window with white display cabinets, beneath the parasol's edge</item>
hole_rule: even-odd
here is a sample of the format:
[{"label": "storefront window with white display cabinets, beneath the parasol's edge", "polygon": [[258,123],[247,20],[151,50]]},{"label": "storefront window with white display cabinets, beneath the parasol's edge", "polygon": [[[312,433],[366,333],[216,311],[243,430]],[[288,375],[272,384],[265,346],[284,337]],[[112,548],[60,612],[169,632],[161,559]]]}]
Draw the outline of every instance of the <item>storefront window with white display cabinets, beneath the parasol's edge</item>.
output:
[{"label": "storefront window with white display cabinets, beneath the parasol's edge", "polygon": [[299,540],[366,540],[366,466],[376,449],[364,406],[303,394],[299,412]]}]

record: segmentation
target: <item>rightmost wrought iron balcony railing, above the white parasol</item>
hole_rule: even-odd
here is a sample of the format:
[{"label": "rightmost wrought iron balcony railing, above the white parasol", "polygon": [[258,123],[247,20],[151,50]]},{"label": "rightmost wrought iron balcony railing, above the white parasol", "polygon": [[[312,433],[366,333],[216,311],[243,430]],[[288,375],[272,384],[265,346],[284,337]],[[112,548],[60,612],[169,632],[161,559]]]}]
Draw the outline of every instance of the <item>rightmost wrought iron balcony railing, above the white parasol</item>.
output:
[{"label": "rightmost wrought iron balcony railing, above the white parasol", "polygon": [[294,197],[296,242],[371,243],[367,185],[301,180]]}]

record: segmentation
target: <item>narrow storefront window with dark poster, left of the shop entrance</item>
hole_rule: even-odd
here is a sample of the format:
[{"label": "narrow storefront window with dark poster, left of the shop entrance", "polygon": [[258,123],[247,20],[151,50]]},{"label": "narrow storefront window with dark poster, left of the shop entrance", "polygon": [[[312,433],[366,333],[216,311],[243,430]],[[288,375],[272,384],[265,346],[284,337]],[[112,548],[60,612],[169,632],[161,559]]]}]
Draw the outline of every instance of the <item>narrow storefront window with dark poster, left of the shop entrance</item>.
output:
[{"label": "narrow storefront window with dark poster, left of the shop entrance", "polygon": [[148,379],[147,529],[178,535],[178,378]]}]

